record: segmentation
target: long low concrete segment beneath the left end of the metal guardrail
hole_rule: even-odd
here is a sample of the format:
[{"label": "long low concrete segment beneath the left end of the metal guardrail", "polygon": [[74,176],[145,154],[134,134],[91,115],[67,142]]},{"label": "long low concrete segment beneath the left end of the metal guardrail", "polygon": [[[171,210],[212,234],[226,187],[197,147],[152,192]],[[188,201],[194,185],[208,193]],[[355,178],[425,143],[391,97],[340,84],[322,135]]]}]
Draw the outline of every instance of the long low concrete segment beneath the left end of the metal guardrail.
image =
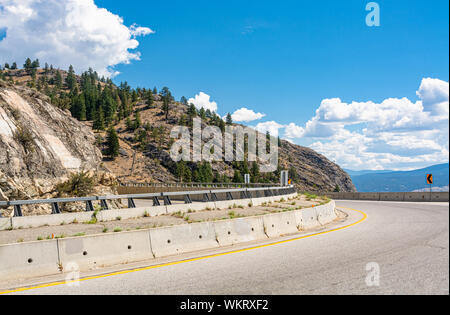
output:
[{"label": "long low concrete segment beneath the left end of the metal guardrail", "polygon": [[69,224],[74,221],[82,223],[92,219],[93,212],[74,212],[49,214],[27,217],[12,217],[11,224],[14,229],[34,228],[40,226],[57,226],[61,224]]}]

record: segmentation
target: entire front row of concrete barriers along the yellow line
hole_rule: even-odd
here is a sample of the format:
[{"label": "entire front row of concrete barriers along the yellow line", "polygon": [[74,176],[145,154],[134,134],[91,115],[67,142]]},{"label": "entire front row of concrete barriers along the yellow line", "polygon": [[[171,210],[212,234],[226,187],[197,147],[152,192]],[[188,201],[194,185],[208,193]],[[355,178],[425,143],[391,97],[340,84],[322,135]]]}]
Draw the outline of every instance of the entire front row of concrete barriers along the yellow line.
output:
[{"label": "entire front row of concrete barriers along the yellow line", "polygon": [[[32,278],[295,234],[329,223],[335,204],[260,217],[202,222],[0,246],[0,280]],[[321,222],[319,222],[321,221]]]}]

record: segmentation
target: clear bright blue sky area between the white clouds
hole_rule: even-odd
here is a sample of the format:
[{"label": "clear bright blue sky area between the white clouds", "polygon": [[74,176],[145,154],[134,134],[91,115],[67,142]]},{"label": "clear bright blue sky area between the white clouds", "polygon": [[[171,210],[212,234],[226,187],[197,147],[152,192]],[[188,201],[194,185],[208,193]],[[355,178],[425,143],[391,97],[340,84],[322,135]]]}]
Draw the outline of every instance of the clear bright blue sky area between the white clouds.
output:
[{"label": "clear bright blue sky area between the white clouds", "polygon": [[448,1],[379,1],[380,28],[366,26],[365,1],[279,2],[96,3],[156,31],[117,82],[201,90],[221,113],[305,123],[323,98],[415,99],[423,77],[448,81]]}]

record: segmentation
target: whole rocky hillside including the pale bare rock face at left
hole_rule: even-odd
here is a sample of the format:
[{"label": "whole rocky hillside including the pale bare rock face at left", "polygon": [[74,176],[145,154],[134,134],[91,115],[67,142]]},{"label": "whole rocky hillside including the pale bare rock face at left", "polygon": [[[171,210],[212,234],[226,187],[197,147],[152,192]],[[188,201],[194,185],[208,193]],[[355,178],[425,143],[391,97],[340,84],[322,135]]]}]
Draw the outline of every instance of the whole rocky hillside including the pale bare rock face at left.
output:
[{"label": "whole rocky hillside including the pale bare rock face at left", "polygon": [[[11,183],[5,184],[6,180],[0,179],[3,198],[48,194],[53,189],[52,184],[61,176],[80,169],[98,170],[100,166],[103,171],[113,173],[125,183],[180,180],[179,165],[171,161],[168,153],[171,146],[169,134],[175,125],[189,126],[190,108],[186,103],[176,102],[172,98],[166,117],[161,91],[152,94],[150,90],[132,90],[126,83],[117,87],[112,82],[96,81],[93,72],[84,78],[74,76],[75,80],[72,81],[75,82],[71,83],[72,89],[69,89],[68,77],[67,72],[56,69],[38,69],[34,78],[29,75],[29,71],[23,70],[3,73],[5,81],[0,90],[0,148],[4,153],[0,155],[0,172],[1,178],[7,178]],[[79,122],[70,117],[71,112],[72,115],[78,113],[70,102],[77,100],[78,87],[86,87],[89,77],[93,80],[94,92],[98,92],[98,100],[94,103],[97,107],[86,111],[88,117],[82,120],[87,121]],[[38,93],[36,89],[51,98]],[[85,93],[88,92],[92,91]],[[152,95],[151,104],[148,93]],[[106,101],[100,98],[103,95],[106,95]],[[91,94],[88,96],[93,97]],[[49,103],[50,100],[53,105]],[[104,108],[103,112],[111,113],[109,107],[95,105],[102,102],[112,104],[111,107],[116,111],[116,114],[110,115],[108,123],[119,137],[119,154],[114,158],[107,156],[107,124],[96,127],[99,125],[98,119],[95,120],[98,113],[93,110]],[[93,113],[91,117],[89,113]],[[195,115],[200,113],[197,111]],[[215,114],[212,117],[209,115],[204,121],[214,125],[223,123]],[[92,129],[95,129],[95,133]],[[287,141],[280,140],[280,145],[278,171],[261,174],[259,182],[277,182],[279,170],[287,169],[301,190],[330,191],[339,186],[341,191],[355,191],[348,174],[326,157]],[[187,178],[191,181],[203,177],[199,173],[205,168],[198,163],[186,163],[183,167],[188,169]],[[236,180],[237,171],[252,173],[253,170],[251,163],[213,162],[206,167],[206,171],[211,173],[206,178],[223,182]]]}]

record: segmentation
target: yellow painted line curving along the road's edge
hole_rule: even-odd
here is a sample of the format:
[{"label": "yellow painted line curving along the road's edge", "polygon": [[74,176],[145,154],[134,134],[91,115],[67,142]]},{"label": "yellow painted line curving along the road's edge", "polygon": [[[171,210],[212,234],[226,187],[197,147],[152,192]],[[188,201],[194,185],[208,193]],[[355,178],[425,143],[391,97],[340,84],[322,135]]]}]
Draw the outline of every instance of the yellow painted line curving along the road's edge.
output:
[{"label": "yellow painted line curving along the road's edge", "polygon": [[156,268],[161,268],[161,267],[174,266],[174,265],[179,265],[179,264],[183,264],[183,263],[187,263],[187,262],[193,262],[193,261],[204,260],[204,259],[211,259],[211,258],[215,258],[215,257],[220,257],[220,256],[225,256],[225,255],[230,255],[230,254],[242,253],[242,252],[246,252],[246,251],[250,251],[250,250],[255,250],[255,249],[269,247],[269,246],[275,246],[275,245],[290,243],[290,242],[299,241],[299,240],[302,240],[302,239],[305,239],[305,238],[309,238],[309,237],[313,237],[313,236],[319,236],[319,235],[323,235],[323,234],[328,234],[328,233],[344,230],[344,229],[350,228],[352,226],[355,226],[355,225],[365,221],[367,219],[367,217],[368,217],[367,214],[364,213],[361,210],[345,208],[345,207],[337,207],[337,208],[347,209],[347,210],[352,210],[352,211],[359,212],[360,214],[363,215],[363,218],[360,219],[357,222],[352,223],[352,224],[349,224],[349,225],[346,225],[346,226],[342,226],[342,227],[339,227],[339,228],[336,228],[336,229],[332,229],[332,230],[329,230],[329,231],[309,234],[309,235],[296,237],[296,238],[292,238],[292,239],[288,239],[288,240],[284,240],[284,241],[278,241],[278,242],[275,242],[275,243],[270,243],[270,244],[265,244],[265,245],[258,245],[258,246],[253,246],[253,247],[249,247],[249,248],[233,250],[233,251],[229,251],[229,252],[225,252],[225,253],[213,254],[213,255],[208,255],[208,256],[203,256],[203,257],[198,257],[198,258],[191,258],[191,259],[186,259],[186,260],[180,260],[180,261],[164,263],[164,264],[154,265],[154,266],[149,266],[149,267],[118,271],[118,272],[108,273],[108,274],[99,275],[99,276],[86,277],[86,278],[77,279],[77,280],[73,280],[73,281],[59,281],[59,282],[52,282],[52,283],[42,284],[42,285],[33,286],[33,287],[24,287],[24,288],[9,290],[9,291],[3,291],[3,292],[0,292],[0,295],[2,295],[2,294],[9,294],[9,293],[23,292],[23,291],[29,291],[29,290],[36,290],[36,289],[42,289],[42,288],[48,288],[48,287],[53,287],[53,286],[58,286],[58,285],[63,285],[63,284],[69,284],[69,283],[74,283],[74,282],[81,282],[81,281],[87,281],[87,280],[94,280],[94,279],[101,279],[101,278],[106,278],[106,277],[124,275],[124,274],[132,273],[132,272],[138,272],[138,271],[151,270],[151,269],[156,269]]}]

